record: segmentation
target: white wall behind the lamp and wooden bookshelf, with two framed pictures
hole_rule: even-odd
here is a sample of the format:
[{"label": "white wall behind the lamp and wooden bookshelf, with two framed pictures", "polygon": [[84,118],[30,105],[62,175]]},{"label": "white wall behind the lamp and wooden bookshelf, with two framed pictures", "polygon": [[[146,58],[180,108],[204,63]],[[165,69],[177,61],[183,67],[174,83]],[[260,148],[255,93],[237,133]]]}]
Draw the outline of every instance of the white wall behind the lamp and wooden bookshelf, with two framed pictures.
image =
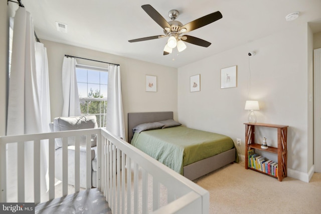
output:
[{"label": "white wall behind the lamp and wooden bookshelf, with two framed pictures", "polygon": [[[307,24],[300,24],[179,68],[179,121],[192,128],[229,135],[234,141],[241,138],[238,152],[244,155],[243,123],[248,114],[244,105],[250,71],[250,99],[259,100],[261,108],[256,111],[258,122],[289,126],[288,175],[305,179],[313,156],[312,138],[308,136],[311,80],[307,61],[311,59],[307,57],[307,41],[311,37],[307,28]],[[248,57],[251,51],[256,55]],[[238,67],[237,87],[220,89],[220,69],[234,65]],[[201,91],[191,93],[190,76],[195,74],[201,74]],[[273,131],[263,129],[256,134],[261,135],[256,136],[257,140],[267,137],[268,144],[276,146]],[[300,177],[302,173],[304,178]]]}]

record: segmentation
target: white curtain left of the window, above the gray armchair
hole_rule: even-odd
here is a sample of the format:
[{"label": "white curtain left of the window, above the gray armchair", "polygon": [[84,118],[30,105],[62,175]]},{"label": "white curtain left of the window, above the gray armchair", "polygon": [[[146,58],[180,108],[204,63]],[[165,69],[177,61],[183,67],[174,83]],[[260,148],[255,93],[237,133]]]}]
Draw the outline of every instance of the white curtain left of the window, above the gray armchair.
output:
[{"label": "white curtain left of the window, above the gray armchair", "polygon": [[80,116],[75,58],[65,57],[62,65],[63,117]]}]

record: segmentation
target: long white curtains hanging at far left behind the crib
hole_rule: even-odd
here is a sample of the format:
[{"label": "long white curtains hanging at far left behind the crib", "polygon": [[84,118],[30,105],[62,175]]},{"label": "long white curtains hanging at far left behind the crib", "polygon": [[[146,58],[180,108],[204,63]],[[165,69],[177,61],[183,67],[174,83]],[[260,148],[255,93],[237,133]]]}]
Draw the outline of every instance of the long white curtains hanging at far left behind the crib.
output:
[{"label": "long white curtains hanging at far left behind the crib", "polygon": [[[9,83],[7,135],[43,132],[43,124],[50,115],[47,59],[36,63],[35,37],[32,17],[25,8],[16,11],[12,50],[11,76]],[[45,50],[42,54],[45,55]],[[40,65],[40,66],[38,66]],[[39,74],[47,68],[45,74]],[[41,82],[41,84],[40,84]],[[46,103],[46,106],[43,106]],[[44,109],[42,107],[45,107]],[[45,118],[43,118],[45,117]],[[42,120],[44,119],[44,121]],[[50,121],[50,119],[49,119]],[[46,131],[46,130],[45,130]],[[8,201],[18,201],[17,197],[17,144],[7,145],[7,196]],[[33,201],[33,143],[25,144],[25,201]],[[43,146],[41,150],[45,149]],[[42,186],[46,185],[46,157],[42,154]],[[46,192],[42,188],[42,193]]]}]

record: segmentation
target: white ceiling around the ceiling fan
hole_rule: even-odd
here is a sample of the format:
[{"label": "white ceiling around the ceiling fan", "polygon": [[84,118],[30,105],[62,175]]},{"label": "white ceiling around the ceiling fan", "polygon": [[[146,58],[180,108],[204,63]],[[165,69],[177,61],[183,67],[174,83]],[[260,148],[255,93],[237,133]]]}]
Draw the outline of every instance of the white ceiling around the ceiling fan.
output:
[{"label": "white ceiling around the ceiling fan", "polygon": [[[41,39],[171,67],[187,65],[302,22],[311,22],[314,33],[321,31],[321,0],[22,0],[22,3],[31,13]],[[211,42],[210,47],[186,43],[187,49],[179,55],[173,51],[163,56],[167,38],[128,42],[163,34],[163,29],[142,10],[141,6],[146,4],[167,21],[170,21],[168,12],[178,10],[177,20],[183,25],[216,11],[223,18],[187,33]],[[300,12],[300,17],[285,21],[285,16],[293,12]],[[67,34],[56,30],[56,21],[68,25]]]}]

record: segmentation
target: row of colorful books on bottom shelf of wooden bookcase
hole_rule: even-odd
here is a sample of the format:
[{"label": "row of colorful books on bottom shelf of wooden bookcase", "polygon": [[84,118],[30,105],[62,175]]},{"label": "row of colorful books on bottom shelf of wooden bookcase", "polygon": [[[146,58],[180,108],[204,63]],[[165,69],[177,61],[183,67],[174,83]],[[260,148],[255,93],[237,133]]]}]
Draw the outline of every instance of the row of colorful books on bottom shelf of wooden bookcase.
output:
[{"label": "row of colorful books on bottom shelf of wooden bookcase", "polygon": [[268,160],[260,154],[254,153],[254,149],[247,151],[248,153],[248,167],[262,171],[277,177],[277,162]]}]

